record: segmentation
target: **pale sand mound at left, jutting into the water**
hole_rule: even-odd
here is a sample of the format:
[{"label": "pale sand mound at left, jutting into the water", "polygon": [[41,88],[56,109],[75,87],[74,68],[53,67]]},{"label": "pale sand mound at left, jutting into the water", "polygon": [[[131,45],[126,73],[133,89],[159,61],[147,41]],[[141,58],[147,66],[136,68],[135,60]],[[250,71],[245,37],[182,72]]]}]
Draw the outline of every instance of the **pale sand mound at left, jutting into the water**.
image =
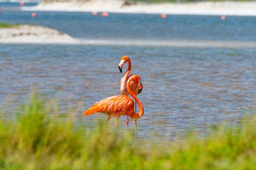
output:
[{"label": "pale sand mound at left, jutting into the water", "polygon": [[21,25],[17,28],[1,28],[0,43],[77,43],[67,34],[55,29]]}]

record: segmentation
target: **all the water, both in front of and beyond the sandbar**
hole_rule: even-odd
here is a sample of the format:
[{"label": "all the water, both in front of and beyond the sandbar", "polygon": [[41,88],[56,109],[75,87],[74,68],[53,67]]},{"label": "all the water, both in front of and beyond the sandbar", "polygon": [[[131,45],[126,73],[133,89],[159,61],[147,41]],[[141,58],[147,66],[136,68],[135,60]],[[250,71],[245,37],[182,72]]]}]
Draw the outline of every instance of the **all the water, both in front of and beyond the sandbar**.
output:
[{"label": "all the water, both in front of and beyond the sandbar", "polygon": [[[255,41],[256,17],[3,11],[1,22],[35,23],[80,39],[228,40]],[[232,28],[232,29],[231,29]],[[225,31],[223,31],[225,30]],[[34,86],[56,94],[61,112],[82,113],[94,102],[120,95],[118,64],[131,58],[131,74],[138,74],[143,92],[138,95],[144,115],[138,120],[138,138],[171,140],[176,134],[223,121],[238,122],[253,113],[256,91],[255,48],[159,47],[107,45],[0,44],[0,99],[27,98]],[[127,64],[123,70],[127,69]],[[95,114],[83,119],[107,119]],[[114,119],[110,125],[115,125]],[[121,117],[119,128],[126,128]],[[129,129],[134,129],[130,121]],[[155,138],[154,138],[155,139]]]}]

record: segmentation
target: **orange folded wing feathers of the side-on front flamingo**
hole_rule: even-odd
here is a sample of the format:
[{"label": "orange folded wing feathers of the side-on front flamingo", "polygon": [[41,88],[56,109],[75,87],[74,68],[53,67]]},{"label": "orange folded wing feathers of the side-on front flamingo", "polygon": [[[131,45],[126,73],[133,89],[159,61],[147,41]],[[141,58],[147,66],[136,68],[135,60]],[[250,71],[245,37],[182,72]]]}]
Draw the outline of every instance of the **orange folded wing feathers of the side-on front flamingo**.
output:
[{"label": "orange folded wing feathers of the side-on front flamingo", "polygon": [[[111,96],[99,102],[95,102],[87,111],[84,117],[95,113],[104,113],[110,117],[126,115],[127,112],[133,110],[134,102],[127,96]],[[112,115],[112,116],[111,116]]]}]

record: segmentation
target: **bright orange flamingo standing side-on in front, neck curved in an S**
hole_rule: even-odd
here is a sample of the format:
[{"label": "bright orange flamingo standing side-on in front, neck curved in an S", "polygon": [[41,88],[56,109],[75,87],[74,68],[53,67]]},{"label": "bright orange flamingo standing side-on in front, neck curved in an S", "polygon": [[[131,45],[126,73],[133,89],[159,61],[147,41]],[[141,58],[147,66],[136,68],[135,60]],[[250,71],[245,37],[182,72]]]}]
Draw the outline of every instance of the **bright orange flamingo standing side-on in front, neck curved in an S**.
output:
[{"label": "bright orange flamingo standing side-on in front, neck curved in an S", "polygon": [[[144,108],[142,103],[140,102],[140,100],[137,98],[137,96],[134,94],[132,90],[132,88],[134,88],[134,84],[136,84],[137,88],[138,86],[141,86],[143,88],[140,77],[138,75],[130,76],[130,78],[127,81],[127,91],[139,105],[140,112],[138,114],[134,112],[133,100],[128,96],[119,95],[119,96],[111,96],[99,102],[95,102],[93,106],[91,106],[87,111],[84,112],[84,117],[95,114],[95,113],[103,113],[108,115],[106,124],[108,123],[109,119],[116,117],[115,133],[117,130],[117,123],[120,116],[127,115],[132,119],[135,119],[135,120],[139,119],[144,114]],[[138,94],[142,91],[142,88],[138,89]],[[135,139],[137,144],[136,124],[135,124]]]}]

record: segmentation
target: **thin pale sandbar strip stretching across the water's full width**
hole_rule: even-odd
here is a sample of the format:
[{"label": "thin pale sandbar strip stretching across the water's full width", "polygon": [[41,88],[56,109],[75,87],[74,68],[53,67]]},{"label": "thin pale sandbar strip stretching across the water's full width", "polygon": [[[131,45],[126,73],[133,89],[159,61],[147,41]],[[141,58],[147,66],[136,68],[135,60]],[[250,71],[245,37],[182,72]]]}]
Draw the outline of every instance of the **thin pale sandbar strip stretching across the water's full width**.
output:
[{"label": "thin pale sandbar strip stretching across the water's full width", "polygon": [[99,46],[153,46],[153,47],[195,47],[195,48],[256,48],[256,41],[219,41],[219,40],[128,40],[128,39],[0,39],[0,44],[75,44]]}]

